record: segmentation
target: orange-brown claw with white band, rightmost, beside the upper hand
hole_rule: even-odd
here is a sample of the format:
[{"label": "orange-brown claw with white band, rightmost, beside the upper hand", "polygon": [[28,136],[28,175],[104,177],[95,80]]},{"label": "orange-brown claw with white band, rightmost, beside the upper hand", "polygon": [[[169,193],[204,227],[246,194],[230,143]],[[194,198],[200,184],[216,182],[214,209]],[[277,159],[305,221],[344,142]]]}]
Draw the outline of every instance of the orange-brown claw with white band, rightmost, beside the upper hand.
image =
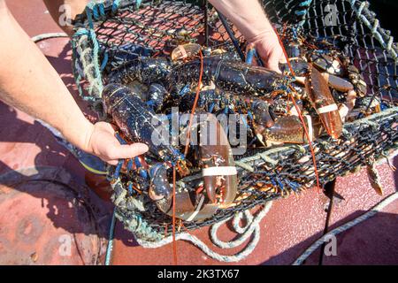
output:
[{"label": "orange-brown claw with white band, rightmost, beside the upper hand", "polygon": [[310,77],[306,80],[306,88],[310,101],[318,112],[327,134],[333,139],[337,139],[342,132],[342,122],[338,107],[334,102],[325,78],[312,65],[309,65],[309,67]]}]

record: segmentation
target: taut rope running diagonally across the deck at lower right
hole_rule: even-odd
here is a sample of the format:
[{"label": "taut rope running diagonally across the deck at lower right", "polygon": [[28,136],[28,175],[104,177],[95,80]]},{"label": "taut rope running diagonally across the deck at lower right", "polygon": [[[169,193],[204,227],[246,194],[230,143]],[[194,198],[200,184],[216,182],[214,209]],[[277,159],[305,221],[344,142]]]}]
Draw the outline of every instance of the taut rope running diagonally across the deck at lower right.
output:
[{"label": "taut rope running diagonally across the deck at lower right", "polygon": [[301,265],[315,250],[317,250],[322,244],[325,242],[326,239],[330,239],[330,236],[336,236],[339,233],[347,231],[348,229],[358,225],[359,223],[363,222],[366,219],[372,218],[375,216],[380,210],[383,210],[388,204],[393,203],[395,200],[398,199],[398,192],[395,192],[392,195],[387,196],[382,202],[377,204],[373,209],[367,211],[363,215],[354,220],[347,222],[346,224],[339,226],[329,233],[325,233],[318,241],[315,241],[310,248],[306,249],[301,256],[299,256],[293,265]]}]

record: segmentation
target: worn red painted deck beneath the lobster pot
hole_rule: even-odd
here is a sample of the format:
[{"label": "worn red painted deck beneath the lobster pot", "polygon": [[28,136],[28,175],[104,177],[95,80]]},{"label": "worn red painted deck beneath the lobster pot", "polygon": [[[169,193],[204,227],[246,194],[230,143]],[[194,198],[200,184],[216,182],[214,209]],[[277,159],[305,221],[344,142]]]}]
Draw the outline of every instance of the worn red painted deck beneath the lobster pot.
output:
[{"label": "worn red painted deck beneath the lobster pot", "polygon": [[[7,4],[30,36],[59,31],[42,1],[7,1]],[[77,97],[67,39],[51,39],[38,46]],[[80,105],[85,109],[85,103]],[[0,175],[4,177],[3,174],[8,173],[19,181],[18,184],[0,183],[0,264],[93,264],[106,243],[110,203],[86,191],[82,185],[84,169],[34,119],[0,103],[0,121],[3,125]],[[394,164],[398,165],[398,158]],[[26,169],[33,166],[41,169],[39,172]],[[385,195],[394,193],[398,172],[392,172],[387,164],[378,168]],[[39,180],[24,182],[29,174]],[[63,184],[49,186],[42,181],[54,176]],[[364,171],[339,178],[336,191],[345,200],[334,205],[332,228],[356,218],[383,199],[373,192]],[[86,204],[76,199],[83,199]],[[315,190],[273,203],[261,222],[260,243],[253,254],[239,264],[292,264],[320,237],[325,226],[326,203],[325,196]],[[221,230],[221,239],[233,237],[228,228]],[[397,232],[398,202],[395,202],[376,217],[339,235],[337,256],[325,256],[324,264],[398,264]],[[208,229],[193,233],[210,244]],[[113,264],[172,264],[172,245],[143,249],[120,224],[115,237]],[[103,241],[99,241],[100,238]],[[72,248],[68,254],[65,243],[70,239]],[[177,249],[179,264],[222,264],[204,256],[190,243],[179,241]],[[213,249],[222,254],[239,250]],[[319,253],[314,253],[307,264],[318,264],[318,257]]]}]

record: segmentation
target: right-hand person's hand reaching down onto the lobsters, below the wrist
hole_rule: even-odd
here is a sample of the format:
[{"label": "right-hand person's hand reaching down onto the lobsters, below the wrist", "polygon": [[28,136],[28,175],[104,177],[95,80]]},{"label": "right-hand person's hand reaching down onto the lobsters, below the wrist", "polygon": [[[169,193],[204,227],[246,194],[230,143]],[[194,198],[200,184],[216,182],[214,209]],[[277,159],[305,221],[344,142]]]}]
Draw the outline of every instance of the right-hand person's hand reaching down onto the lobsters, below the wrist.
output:
[{"label": "right-hand person's hand reaching down onto the lobsters, below the wrist", "polygon": [[277,34],[273,30],[266,30],[249,39],[249,45],[254,47],[258,56],[264,62],[264,67],[281,73],[279,63],[287,63],[285,54],[279,44]]}]

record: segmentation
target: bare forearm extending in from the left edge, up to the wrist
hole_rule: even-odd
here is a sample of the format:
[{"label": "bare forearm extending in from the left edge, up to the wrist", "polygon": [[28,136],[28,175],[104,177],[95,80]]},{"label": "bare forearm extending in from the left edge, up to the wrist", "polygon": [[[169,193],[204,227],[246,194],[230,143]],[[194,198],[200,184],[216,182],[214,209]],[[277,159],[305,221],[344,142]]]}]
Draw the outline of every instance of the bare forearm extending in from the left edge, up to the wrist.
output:
[{"label": "bare forearm extending in from the left edge, up to the wrist", "polygon": [[49,123],[69,142],[85,149],[92,124],[41,50],[4,6],[0,7],[0,34],[0,99]]}]

